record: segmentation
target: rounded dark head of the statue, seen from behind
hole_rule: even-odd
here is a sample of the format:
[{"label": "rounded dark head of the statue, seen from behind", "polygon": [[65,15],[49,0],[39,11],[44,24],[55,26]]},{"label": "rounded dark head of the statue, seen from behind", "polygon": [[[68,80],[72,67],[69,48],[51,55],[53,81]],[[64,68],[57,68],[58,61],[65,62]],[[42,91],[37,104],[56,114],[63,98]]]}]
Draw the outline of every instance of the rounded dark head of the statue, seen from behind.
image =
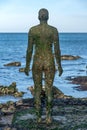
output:
[{"label": "rounded dark head of the statue, seen from behind", "polygon": [[38,19],[40,21],[47,21],[49,19],[49,12],[47,9],[40,9],[38,13]]}]

